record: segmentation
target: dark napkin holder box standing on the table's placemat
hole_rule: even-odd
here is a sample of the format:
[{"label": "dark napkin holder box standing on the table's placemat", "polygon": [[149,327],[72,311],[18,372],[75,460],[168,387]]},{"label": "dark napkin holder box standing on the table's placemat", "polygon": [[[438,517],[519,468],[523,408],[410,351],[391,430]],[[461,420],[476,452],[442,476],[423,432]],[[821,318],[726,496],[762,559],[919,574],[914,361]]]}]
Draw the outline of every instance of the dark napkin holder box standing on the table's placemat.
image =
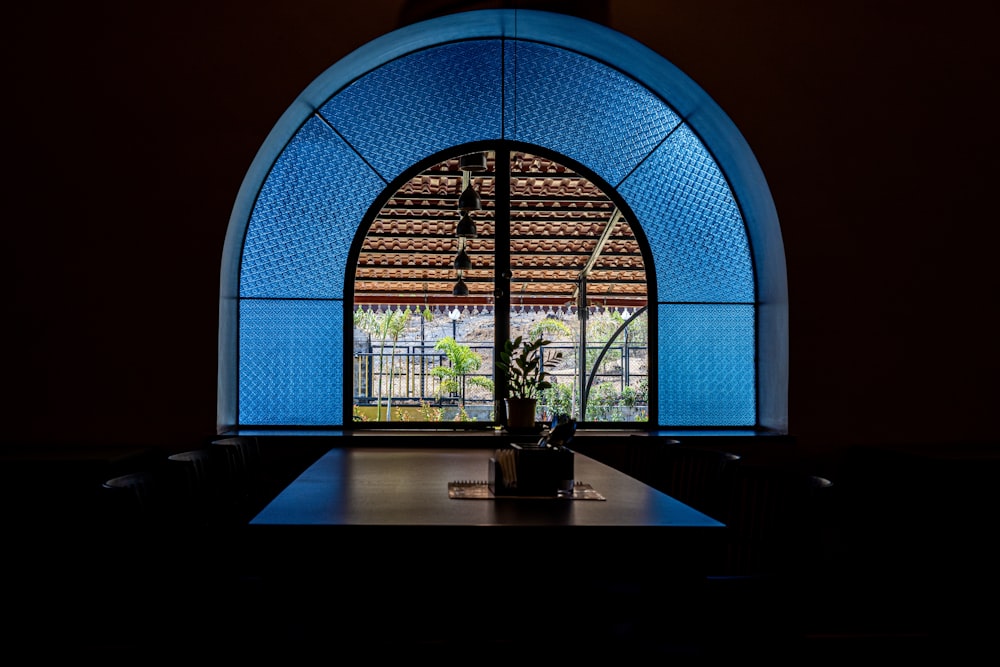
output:
[{"label": "dark napkin holder box standing on the table's placemat", "polygon": [[[504,475],[504,464],[498,460],[513,458],[513,479]],[[489,462],[488,484],[494,496],[559,497],[573,494],[574,453],[566,447],[512,444],[498,450]]]}]

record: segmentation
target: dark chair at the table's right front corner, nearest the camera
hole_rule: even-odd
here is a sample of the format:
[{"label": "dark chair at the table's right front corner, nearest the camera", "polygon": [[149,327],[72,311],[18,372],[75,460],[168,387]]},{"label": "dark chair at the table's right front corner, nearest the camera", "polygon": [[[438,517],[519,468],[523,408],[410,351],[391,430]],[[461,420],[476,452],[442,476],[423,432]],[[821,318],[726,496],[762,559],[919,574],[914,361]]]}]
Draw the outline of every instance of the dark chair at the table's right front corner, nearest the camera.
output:
[{"label": "dark chair at the table's right front corner, nearest the camera", "polygon": [[718,518],[726,539],[705,579],[706,644],[780,657],[821,611],[833,483],[776,465],[729,468]]}]

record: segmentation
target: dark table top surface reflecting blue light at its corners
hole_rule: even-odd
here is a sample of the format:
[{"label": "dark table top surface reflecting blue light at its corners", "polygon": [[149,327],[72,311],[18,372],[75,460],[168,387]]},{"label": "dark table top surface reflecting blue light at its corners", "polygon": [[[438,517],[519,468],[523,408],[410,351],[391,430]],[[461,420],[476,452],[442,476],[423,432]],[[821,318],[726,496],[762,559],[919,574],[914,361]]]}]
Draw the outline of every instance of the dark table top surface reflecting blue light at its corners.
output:
[{"label": "dark table top surface reflecting blue light at its corners", "polygon": [[449,482],[486,480],[492,448],[334,448],[251,526],[606,526],[716,529],[716,520],[579,453],[575,478],[605,500],[455,499]]}]

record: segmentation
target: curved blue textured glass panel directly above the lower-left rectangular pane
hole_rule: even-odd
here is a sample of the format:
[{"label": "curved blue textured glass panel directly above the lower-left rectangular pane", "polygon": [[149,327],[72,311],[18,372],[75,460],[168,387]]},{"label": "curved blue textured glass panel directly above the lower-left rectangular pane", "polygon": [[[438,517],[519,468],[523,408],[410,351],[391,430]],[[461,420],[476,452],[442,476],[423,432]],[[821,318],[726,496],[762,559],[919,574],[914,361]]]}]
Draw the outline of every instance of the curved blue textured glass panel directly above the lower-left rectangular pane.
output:
[{"label": "curved blue textured glass panel directly above the lower-left rectangular pane", "polygon": [[322,121],[282,152],[247,227],[240,296],[342,298],[347,253],[385,184]]}]

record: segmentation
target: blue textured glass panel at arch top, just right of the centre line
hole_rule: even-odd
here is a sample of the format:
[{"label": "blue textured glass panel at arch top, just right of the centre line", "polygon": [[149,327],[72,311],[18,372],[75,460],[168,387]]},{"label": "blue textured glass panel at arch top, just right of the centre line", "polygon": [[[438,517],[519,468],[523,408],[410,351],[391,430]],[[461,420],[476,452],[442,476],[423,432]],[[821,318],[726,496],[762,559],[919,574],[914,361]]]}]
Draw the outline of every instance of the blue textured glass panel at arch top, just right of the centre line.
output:
[{"label": "blue textured glass panel at arch top, just right of the centre line", "polygon": [[612,185],[680,122],[649,90],[579,54],[513,42],[505,58],[508,138],[555,150]]}]

